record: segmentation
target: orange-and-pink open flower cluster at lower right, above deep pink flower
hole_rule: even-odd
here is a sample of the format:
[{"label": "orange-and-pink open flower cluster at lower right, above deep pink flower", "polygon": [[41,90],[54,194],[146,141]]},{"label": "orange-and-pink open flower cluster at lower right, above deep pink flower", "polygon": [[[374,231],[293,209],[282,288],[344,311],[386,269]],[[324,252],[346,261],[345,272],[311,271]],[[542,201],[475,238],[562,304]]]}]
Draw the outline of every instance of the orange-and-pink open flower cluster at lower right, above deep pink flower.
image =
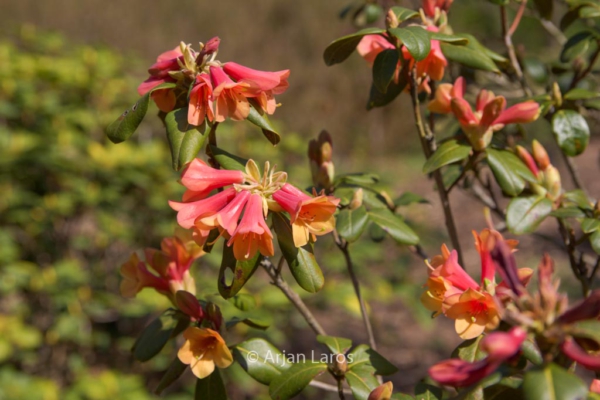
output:
[{"label": "orange-and-pink open flower cluster at lower right, above deep pink flower", "polygon": [[[510,248],[516,242],[505,240],[499,232],[484,229],[480,234],[473,232],[475,246],[481,259],[481,280],[478,284],[458,264],[456,250],[450,252],[442,247],[442,254],[429,264],[427,291],[421,302],[433,311],[435,316],[444,314],[455,320],[456,333],[462,339],[472,339],[484,331],[498,327],[502,312],[502,301],[506,298],[506,282],[496,284],[496,267],[491,252],[502,242]],[[532,271],[523,268],[518,271],[518,280],[524,285]]]}]

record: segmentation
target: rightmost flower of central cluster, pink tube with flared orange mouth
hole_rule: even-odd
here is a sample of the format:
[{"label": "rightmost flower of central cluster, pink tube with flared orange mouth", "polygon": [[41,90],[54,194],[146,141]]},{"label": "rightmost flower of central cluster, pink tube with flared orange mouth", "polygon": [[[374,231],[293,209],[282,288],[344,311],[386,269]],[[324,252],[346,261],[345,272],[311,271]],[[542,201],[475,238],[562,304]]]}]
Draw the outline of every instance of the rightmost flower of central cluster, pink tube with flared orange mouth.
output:
[{"label": "rightmost flower of central cluster, pink tube with flared orange mouth", "polygon": [[292,235],[296,247],[304,246],[310,239],[325,235],[335,228],[333,214],[339,199],[320,195],[310,197],[300,189],[286,183],[273,193],[273,199],[290,214]]}]

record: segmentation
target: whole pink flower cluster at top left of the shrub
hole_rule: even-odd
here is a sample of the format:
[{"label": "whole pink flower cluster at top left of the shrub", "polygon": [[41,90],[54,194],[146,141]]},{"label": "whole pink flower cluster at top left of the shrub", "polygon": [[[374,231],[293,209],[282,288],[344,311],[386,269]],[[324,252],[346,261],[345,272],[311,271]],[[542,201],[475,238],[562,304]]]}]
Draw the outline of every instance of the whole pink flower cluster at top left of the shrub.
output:
[{"label": "whole pink flower cluster at top left of the shrub", "polygon": [[273,114],[277,108],[274,96],[287,90],[290,71],[266,72],[234,62],[221,63],[216,60],[219,44],[215,37],[200,43],[200,52],[181,43],[162,53],[138,93],[144,95],[163,83],[175,83],[174,88],[154,90],[152,99],[164,112],[187,106],[192,125],[201,125],[205,118],[210,122],[246,119],[251,102]]}]

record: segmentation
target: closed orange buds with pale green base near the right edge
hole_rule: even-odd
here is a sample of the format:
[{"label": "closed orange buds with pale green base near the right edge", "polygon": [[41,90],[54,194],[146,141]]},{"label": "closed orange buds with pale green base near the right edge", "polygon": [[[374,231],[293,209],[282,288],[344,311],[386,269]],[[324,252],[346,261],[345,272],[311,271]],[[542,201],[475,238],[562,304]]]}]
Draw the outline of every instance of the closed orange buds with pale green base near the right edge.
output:
[{"label": "closed orange buds with pale green base near the right edge", "polygon": [[550,163],[550,158],[544,146],[537,140],[533,141],[533,157],[524,147],[517,146],[517,154],[527,168],[538,180],[532,185],[533,190],[550,200],[557,200],[562,193],[560,172]]}]

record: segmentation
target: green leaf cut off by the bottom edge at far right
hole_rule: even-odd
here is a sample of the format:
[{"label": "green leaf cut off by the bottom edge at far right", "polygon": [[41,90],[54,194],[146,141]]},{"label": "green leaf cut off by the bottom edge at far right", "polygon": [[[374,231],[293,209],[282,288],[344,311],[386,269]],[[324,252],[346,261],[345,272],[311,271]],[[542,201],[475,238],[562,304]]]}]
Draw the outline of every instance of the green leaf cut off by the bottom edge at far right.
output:
[{"label": "green leaf cut off by the bottom edge at far right", "polygon": [[580,400],[587,392],[581,379],[556,364],[532,369],[523,379],[523,393],[528,400]]}]

